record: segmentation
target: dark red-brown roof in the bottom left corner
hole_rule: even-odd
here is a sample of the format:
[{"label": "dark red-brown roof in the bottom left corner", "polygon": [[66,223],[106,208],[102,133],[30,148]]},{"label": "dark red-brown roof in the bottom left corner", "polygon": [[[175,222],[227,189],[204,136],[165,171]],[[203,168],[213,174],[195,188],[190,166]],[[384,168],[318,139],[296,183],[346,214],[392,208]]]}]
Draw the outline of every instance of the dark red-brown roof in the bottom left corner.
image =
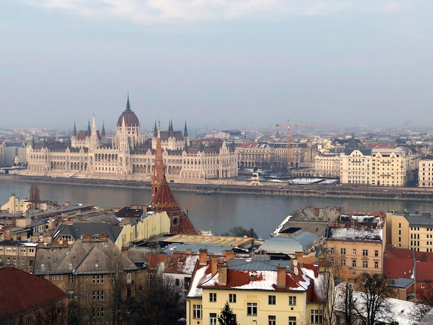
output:
[{"label": "dark red-brown roof in the bottom left corner", "polygon": [[16,268],[0,270],[0,288],[0,315],[3,320],[67,297],[50,281]]}]

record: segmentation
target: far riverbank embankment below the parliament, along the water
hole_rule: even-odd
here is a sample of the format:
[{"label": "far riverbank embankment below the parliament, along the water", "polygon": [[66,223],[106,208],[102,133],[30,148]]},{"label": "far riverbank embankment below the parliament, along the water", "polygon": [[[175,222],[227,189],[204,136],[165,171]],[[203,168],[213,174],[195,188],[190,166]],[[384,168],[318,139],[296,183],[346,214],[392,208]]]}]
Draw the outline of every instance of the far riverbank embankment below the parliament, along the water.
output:
[{"label": "far riverbank embankment below the parliament, along the water", "polygon": [[[100,180],[87,178],[53,178],[44,176],[24,176],[0,174],[0,180],[11,180],[30,183],[57,183],[66,185],[86,185],[100,187],[151,188],[150,182],[135,180]],[[260,194],[270,196],[306,196],[321,198],[362,198],[369,200],[396,200],[433,202],[433,189],[417,187],[350,187],[343,185],[282,185],[282,183],[261,182],[259,186],[230,184],[184,184],[170,183],[172,189],[196,192],[209,190],[217,194]]]}]

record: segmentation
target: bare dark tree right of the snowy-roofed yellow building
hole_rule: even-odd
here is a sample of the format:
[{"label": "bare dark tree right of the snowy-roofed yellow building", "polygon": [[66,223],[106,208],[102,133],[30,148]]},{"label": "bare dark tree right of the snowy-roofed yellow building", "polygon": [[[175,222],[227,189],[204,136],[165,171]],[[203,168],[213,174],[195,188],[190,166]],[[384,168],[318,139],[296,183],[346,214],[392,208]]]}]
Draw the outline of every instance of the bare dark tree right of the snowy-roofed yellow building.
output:
[{"label": "bare dark tree right of the snowy-roofed yellow building", "polygon": [[354,301],[356,313],[367,325],[374,325],[378,314],[387,312],[385,298],[391,297],[392,290],[388,287],[389,279],[378,273],[362,272],[354,285],[360,291],[361,299]]}]

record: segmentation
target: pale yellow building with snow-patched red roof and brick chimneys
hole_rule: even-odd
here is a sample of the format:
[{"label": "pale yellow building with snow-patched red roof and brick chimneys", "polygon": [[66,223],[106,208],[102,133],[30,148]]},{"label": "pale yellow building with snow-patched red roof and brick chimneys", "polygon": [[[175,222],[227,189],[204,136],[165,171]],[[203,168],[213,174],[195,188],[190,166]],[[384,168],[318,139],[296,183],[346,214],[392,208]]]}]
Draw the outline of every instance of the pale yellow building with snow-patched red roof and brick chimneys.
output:
[{"label": "pale yellow building with snow-patched red roof and brick chimneys", "polygon": [[239,324],[322,324],[327,275],[296,261],[207,257],[200,252],[187,296],[187,324],[216,325],[226,302]]}]

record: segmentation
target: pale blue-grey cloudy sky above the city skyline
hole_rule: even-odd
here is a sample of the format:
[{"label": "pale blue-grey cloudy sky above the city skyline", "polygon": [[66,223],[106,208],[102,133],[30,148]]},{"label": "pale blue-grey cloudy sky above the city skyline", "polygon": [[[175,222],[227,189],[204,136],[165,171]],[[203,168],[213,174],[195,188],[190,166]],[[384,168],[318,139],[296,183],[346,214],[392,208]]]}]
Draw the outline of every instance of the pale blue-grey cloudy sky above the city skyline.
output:
[{"label": "pale blue-grey cloudy sky above the city skyline", "polygon": [[431,124],[431,0],[8,0],[0,127]]}]

